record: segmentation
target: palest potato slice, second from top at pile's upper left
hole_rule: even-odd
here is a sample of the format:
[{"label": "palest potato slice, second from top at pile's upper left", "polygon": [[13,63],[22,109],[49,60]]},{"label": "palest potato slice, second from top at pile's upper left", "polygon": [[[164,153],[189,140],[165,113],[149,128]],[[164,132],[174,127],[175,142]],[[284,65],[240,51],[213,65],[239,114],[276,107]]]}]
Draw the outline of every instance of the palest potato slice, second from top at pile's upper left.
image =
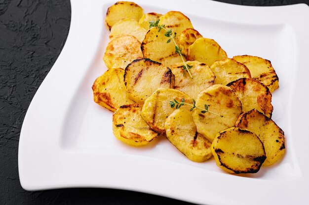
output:
[{"label": "palest potato slice, second from top at pile's upper left", "polygon": [[144,29],[139,23],[134,19],[122,19],[118,21],[110,33],[110,40],[118,37],[120,35],[132,35],[137,40],[142,42],[145,38],[147,30]]}]

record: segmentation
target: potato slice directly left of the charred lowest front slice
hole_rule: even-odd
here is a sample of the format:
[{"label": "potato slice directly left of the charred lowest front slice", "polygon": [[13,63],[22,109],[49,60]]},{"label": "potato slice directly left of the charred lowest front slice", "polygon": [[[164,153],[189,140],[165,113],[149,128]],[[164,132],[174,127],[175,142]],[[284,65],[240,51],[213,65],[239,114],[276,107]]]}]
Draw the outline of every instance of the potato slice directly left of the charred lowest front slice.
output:
[{"label": "potato slice directly left of the charred lowest front slice", "polygon": [[212,156],[211,143],[196,131],[192,113],[175,110],[165,121],[166,138],[194,162],[203,162]]}]

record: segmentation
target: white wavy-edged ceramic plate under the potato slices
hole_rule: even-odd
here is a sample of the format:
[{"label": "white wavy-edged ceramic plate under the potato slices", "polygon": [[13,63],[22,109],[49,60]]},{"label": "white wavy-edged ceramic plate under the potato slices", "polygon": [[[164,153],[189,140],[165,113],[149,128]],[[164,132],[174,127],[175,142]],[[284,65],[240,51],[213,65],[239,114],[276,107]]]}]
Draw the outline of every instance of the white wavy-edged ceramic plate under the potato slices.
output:
[{"label": "white wavy-edged ceramic plate under the potato slices", "polygon": [[309,7],[250,7],[205,0],[136,0],[145,12],[185,13],[204,37],[234,55],[270,59],[280,88],[273,119],[284,130],[286,154],[257,174],[230,175],[214,160],[194,163],[165,139],[132,147],[116,140],[112,113],[92,100],[106,66],[111,0],[72,0],[66,44],[37,91],[20,134],[19,176],[26,190],[105,187],[199,204],[297,204],[309,190]]}]

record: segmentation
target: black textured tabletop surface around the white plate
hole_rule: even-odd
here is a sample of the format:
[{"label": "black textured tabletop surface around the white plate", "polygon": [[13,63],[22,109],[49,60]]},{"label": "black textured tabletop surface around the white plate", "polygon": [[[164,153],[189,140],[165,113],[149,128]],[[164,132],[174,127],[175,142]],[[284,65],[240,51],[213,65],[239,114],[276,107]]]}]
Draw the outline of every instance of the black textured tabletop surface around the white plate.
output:
[{"label": "black textured tabletop surface around the white plate", "polygon": [[[219,1],[258,6],[309,4],[309,0]],[[65,44],[70,18],[69,0],[0,0],[0,205],[189,205],[113,189],[22,189],[17,164],[20,129],[34,94]]]}]

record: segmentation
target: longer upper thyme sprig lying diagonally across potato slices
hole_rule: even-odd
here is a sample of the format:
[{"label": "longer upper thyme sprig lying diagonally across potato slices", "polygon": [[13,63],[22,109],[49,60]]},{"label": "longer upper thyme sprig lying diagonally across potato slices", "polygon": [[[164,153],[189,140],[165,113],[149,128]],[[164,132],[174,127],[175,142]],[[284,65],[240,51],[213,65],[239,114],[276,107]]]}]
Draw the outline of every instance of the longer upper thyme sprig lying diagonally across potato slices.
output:
[{"label": "longer upper thyme sprig lying diagonally across potato slices", "polygon": [[[188,65],[188,64],[185,62],[185,59],[184,59],[184,57],[183,57],[183,55],[182,55],[182,53],[181,53],[182,49],[179,48],[179,46],[177,45],[177,43],[176,43],[176,41],[175,41],[176,32],[174,32],[174,34],[173,34],[172,29],[166,29],[166,28],[165,28],[165,25],[161,25],[161,24],[159,24],[159,22],[160,22],[160,20],[150,21],[150,22],[149,22],[149,24],[150,24],[150,25],[149,25],[149,28],[151,29],[151,28],[153,28],[153,27],[156,27],[156,28],[159,29],[159,32],[161,31],[161,29],[165,30],[164,35],[165,35],[166,37],[169,38],[169,39],[166,41],[166,43],[169,43],[169,42],[171,42],[171,41],[174,42],[174,44],[175,44],[175,53],[178,54],[178,55],[181,57],[181,59],[182,59],[182,61],[183,61],[183,63],[184,63],[182,69],[185,70],[185,71],[187,71],[187,72],[189,73],[190,77],[193,78],[193,76],[192,76],[192,74],[191,74],[191,72],[190,72],[190,69],[192,68],[192,65]],[[184,75],[185,75],[185,72],[184,72]]]}]

